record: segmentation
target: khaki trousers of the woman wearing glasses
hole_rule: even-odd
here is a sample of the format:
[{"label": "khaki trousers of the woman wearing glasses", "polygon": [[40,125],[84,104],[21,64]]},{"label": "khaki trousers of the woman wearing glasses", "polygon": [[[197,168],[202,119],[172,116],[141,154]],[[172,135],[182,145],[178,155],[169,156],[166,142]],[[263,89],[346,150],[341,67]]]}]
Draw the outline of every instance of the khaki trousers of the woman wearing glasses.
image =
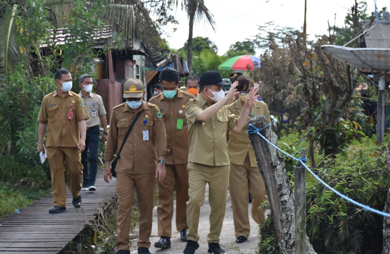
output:
[{"label": "khaki trousers of the woman wearing glasses", "polygon": [[268,199],[264,181],[257,167],[250,167],[248,154],[244,165],[230,165],[229,192],[232,201],[234,230],[236,237],[249,237],[250,224],[248,216],[249,193],[252,195],[252,218],[257,224],[266,217],[264,210],[258,210],[262,202]]}]

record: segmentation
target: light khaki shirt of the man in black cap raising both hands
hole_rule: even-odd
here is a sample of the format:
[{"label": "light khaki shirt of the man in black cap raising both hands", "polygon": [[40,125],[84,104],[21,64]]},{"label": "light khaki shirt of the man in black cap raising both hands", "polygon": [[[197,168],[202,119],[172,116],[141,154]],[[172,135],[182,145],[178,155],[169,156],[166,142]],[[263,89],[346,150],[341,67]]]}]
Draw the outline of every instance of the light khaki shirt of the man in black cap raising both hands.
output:
[{"label": "light khaki shirt of the man in black cap raising both hands", "polygon": [[210,107],[210,103],[198,96],[190,99],[186,107],[190,152],[188,162],[209,166],[230,165],[227,155],[226,131],[234,128],[237,118],[223,106],[206,121],[196,121],[199,112]]}]

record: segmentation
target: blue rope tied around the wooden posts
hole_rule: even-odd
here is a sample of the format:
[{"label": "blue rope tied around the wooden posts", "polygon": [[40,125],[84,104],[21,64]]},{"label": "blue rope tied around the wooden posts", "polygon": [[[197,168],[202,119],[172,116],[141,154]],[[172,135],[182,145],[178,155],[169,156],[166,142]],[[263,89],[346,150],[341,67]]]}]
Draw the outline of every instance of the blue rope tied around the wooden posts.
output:
[{"label": "blue rope tied around the wooden posts", "polygon": [[293,158],[294,160],[297,160],[298,162],[301,162],[301,165],[303,165],[303,167],[305,167],[305,168],[307,169],[307,171],[308,171],[310,174],[312,174],[312,175],[314,176],[314,178],[316,178],[320,183],[322,183],[323,185],[325,185],[328,189],[332,190],[332,192],[334,192],[335,194],[339,195],[339,196],[342,197],[343,199],[345,199],[345,200],[351,202],[352,204],[355,204],[356,206],[359,206],[359,207],[361,207],[361,208],[363,208],[363,209],[365,209],[365,210],[367,210],[367,211],[371,211],[371,212],[373,212],[373,213],[376,213],[376,214],[382,215],[382,216],[384,216],[384,217],[389,217],[389,218],[390,218],[390,214],[389,214],[389,213],[385,213],[385,212],[383,212],[383,211],[379,211],[379,210],[376,210],[376,209],[371,208],[371,207],[369,207],[369,206],[366,206],[366,205],[364,205],[364,204],[361,204],[361,203],[359,203],[359,202],[356,202],[355,200],[353,200],[353,199],[347,197],[347,196],[344,195],[344,194],[341,194],[341,193],[338,192],[337,190],[335,190],[335,189],[333,189],[332,187],[330,187],[328,184],[326,184],[323,180],[321,180],[321,178],[319,178],[318,176],[316,176],[316,174],[314,174],[314,173],[306,166],[305,162],[307,161],[307,159],[306,159],[306,161],[305,161],[305,160],[302,160],[301,158],[297,159],[297,158],[295,158],[294,156],[289,155],[288,153],[286,153],[285,151],[283,151],[283,150],[280,149],[279,147],[277,147],[277,146],[275,146],[274,144],[272,144],[268,139],[266,139],[263,135],[261,135],[261,134],[259,133],[259,130],[263,130],[264,128],[268,127],[269,124],[268,124],[267,126],[265,126],[264,128],[261,128],[261,129],[256,128],[256,127],[253,126],[252,124],[249,124],[249,126],[252,127],[252,130],[247,130],[246,133],[248,133],[248,134],[257,133],[260,137],[262,137],[264,140],[266,140],[269,144],[271,144],[273,147],[275,147],[276,149],[278,149],[278,151],[280,151],[280,152],[284,153],[285,155],[287,155],[287,156]]}]

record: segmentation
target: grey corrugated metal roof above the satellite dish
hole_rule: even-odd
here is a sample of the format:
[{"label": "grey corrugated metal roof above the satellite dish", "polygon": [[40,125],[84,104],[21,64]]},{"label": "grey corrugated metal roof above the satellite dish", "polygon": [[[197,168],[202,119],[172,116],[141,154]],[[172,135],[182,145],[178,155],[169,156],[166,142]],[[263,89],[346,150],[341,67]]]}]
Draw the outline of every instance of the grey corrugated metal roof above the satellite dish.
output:
[{"label": "grey corrugated metal roof above the satellite dish", "polygon": [[[363,21],[362,26],[367,29],[370,28],[369,24],[370,21]],[[372,27],[366,33],[364,43],[366,48],[390,48],[390,25],[378,24]]]}]

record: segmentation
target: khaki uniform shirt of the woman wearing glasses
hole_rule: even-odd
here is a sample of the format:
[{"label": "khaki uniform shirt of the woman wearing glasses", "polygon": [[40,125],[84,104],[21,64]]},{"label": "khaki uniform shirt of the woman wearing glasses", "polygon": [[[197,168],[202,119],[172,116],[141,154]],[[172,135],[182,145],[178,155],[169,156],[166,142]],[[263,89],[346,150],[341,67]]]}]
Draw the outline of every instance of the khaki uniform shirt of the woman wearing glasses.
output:
[{"label": "khaki uniform shirt of the woman wearing glasses", "polygon": [[[236,117],[238,117],[241,114],[243,107],[244,106],[242,105],[239,99],[227,106],[230,112],[236,115]],[[254,101],[251,108],[251,113],[253,113],[253,115],[248,115],[248,120],[256,115],[264,115],[268,123],[271,122],[271,119],[269,118],[268,107],[262,101],[258,101],[258,100]],[[241,132],[232,131],[230,133],[230,138],[227,143],[227,146],[228,146],[230,163],[236,165],[244,165],[245,157],[249,153],[250,166],[257,167],[255,152],[252,149],[250,140],[248,138],[248,134],[246,134],[245,127]]]}]

